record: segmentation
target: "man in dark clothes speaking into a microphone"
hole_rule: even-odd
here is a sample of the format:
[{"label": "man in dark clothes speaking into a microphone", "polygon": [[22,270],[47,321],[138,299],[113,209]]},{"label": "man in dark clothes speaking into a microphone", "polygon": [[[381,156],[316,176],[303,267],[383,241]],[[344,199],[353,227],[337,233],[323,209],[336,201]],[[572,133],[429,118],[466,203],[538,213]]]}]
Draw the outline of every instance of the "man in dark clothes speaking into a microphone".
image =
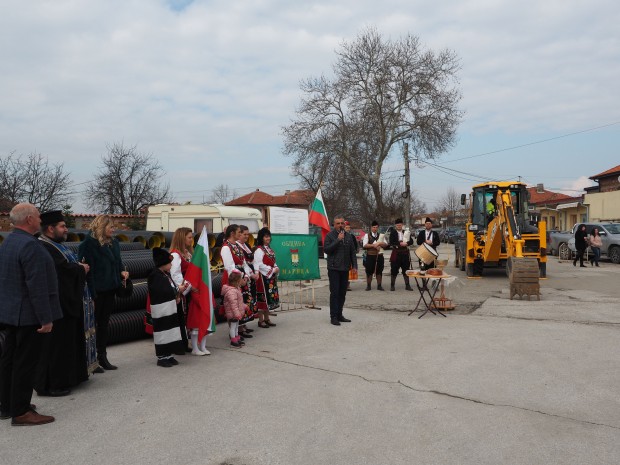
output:
[{"label": "man in dark clothes speaking into a microphone", "polygon": [[344,218],[334,218],[334,229],[325,236],[323,250],[327,254],[327,276],[329,277],[329,316],[331,323],[340,326],[351,320],[342,315],[347,295],[349,269],[357,268],[355,237],[344,230]]}]

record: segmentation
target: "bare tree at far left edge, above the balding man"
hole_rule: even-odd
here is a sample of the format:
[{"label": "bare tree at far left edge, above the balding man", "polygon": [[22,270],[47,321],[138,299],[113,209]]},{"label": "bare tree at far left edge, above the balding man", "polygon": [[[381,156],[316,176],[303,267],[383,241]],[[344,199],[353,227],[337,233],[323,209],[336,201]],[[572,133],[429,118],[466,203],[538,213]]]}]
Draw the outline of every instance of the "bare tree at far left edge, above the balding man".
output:
[{"label": "bare tree at far left edge, above the balding man", "polygon": [[47,157],[32,152],[0,159],[0,199],[6,205],[29,202],[39,210],[60,208],[70,199],[69,173],[62,163],[50,164]]}]

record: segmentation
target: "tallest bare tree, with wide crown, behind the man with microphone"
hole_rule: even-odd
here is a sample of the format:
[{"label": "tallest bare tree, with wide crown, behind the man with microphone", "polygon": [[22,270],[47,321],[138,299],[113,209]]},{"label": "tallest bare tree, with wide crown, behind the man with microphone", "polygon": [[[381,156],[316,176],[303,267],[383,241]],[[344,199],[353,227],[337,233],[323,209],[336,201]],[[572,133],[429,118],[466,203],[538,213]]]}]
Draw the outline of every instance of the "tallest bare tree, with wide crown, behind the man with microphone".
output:
[{"label": "tallest bare tree, with wide crown, behind the man with microphone", "polygon": [[415,36],[392,41],[373,28],[336,53],[333,79],[301,83],[296,118],[282,128],[284,153],[294,157],[293,174],[314,188],[321,181],[326,188],[346,166],[349,179],[368,185],[375,215],[383,217],[381,171],[399,145],[432,159],[454,144],[462,117],[459,61],[449,50],[424,50]]}]

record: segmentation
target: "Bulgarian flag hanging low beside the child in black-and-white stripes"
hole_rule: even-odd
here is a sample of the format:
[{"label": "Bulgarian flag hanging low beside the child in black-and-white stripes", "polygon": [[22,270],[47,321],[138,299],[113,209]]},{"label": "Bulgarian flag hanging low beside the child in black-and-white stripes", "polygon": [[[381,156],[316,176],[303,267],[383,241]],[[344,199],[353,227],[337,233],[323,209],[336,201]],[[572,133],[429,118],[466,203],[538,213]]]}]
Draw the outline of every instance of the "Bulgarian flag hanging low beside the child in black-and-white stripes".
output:
[{"label": "Bulgarian flag hanging low beside the child in black-and-white stripes", "polygon": [[202,227],[200,239],[194,249],[192,261],[185,272],[185,279],[198,292],[192,292],[187,315],[187,327],[198,328],[198,340],[215,332],[215,301],[211,289],[211,263],[207,228]]}]

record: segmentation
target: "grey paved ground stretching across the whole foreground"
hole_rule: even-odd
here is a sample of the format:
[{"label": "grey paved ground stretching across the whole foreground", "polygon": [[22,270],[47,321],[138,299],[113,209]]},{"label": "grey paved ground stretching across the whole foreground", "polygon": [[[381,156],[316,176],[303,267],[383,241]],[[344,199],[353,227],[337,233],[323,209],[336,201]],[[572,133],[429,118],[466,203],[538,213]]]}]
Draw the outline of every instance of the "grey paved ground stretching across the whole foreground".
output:
[{"label": "grey paved ground stretching across the whole foreground", "polygon": [[213,355],[171,369],[148,340],[112,347],[118,371],[35,396],[56,423],[0,423],[0,463],[620,463],[620,266],[551,259],[540,302],[509,300],[502,271],[448,270],[447,318],[407,316],[401,278],[354,283],[334,327],[322,281],[321,310],[283,312],[241,350],[222,325]]}]

